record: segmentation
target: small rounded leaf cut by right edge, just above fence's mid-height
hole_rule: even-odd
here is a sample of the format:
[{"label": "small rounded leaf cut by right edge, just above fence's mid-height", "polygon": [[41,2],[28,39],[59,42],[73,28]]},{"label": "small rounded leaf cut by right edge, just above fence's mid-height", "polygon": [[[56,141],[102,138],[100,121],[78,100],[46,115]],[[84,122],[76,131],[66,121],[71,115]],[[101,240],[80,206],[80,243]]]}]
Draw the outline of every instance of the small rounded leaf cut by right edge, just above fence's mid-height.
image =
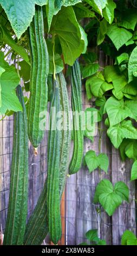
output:
[{"label": "small rounded leaf cut by right edge, just above fence's mid-height", "polygon": [[128,158],[136,160],[137,159],[137,141],[130,141],[125,148],[125,154]]}]

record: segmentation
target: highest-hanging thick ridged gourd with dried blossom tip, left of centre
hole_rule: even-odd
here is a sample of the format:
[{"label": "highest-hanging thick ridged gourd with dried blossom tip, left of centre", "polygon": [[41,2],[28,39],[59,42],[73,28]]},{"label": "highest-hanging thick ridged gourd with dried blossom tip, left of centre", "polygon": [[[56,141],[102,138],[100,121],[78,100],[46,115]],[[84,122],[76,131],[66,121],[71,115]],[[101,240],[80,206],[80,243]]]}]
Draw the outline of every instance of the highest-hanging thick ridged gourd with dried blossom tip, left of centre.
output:
[{"label": "highest-hanging thick ridged gourd with dried blossom tip, left of centre", "polygon": [[29,45],[31,70],[28,135],[37,154],[37,147],[44,136],[44,127],[41,127],[41,120],[45,117],[45,111],[47,111],[47,77],[49,73],[49,58],[47,44],[44,39],[42,7],[38,5],[36,5],[35,15],[29,27]]}]

